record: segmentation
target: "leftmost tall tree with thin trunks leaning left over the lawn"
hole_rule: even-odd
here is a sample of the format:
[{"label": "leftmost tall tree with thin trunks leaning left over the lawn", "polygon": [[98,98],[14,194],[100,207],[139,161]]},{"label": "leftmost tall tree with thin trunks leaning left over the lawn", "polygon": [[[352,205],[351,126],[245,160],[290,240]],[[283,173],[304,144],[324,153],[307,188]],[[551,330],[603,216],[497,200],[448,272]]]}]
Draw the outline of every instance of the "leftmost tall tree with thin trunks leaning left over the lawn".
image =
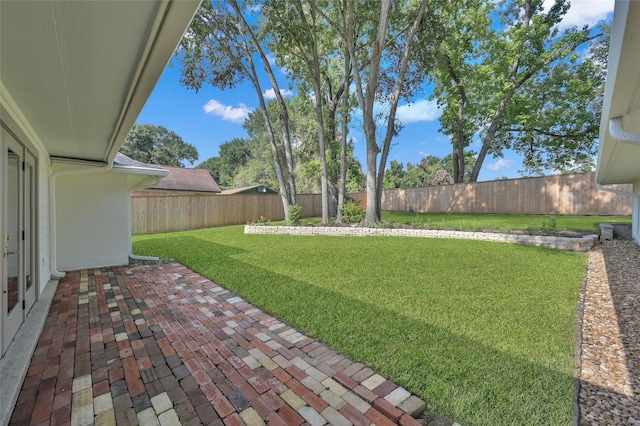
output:
[{"label": "leftmost tall tree with thin trunks leaning left over the lawn", "polygon": [[[232,88],[245,79],[251,82],[263,114],[280,196],[288,215],[289,206],[296,204],[288,111],[265,46],[258,38],[259,29],[244,15],[255,11],[255,6],[251,1],[236,0],[216,2],[215,6],[210,1],[202,3],[181,42],[181,82],[195,90],[199,90],[205,82],[219,88]],[[251,22],[254,21],[252,17]],[[276,144],[273,124],[267,112],[264,91],[256,68],[256,59],[267,74],[278,102],[284,155],[280,154]]]}]

